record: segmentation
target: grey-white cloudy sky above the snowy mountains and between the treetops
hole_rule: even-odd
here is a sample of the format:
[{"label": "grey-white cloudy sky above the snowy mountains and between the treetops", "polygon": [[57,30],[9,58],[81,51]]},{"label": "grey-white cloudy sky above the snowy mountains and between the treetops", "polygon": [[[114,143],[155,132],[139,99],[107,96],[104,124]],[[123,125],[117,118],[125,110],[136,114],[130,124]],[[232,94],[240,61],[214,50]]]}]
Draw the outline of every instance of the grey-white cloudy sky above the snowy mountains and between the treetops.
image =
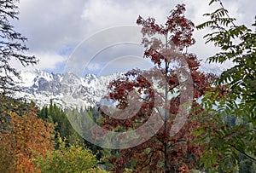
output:
[{"label": "grey-white cloudy sky above the snowy mountains and between the treetops", "polygon": [[[101,33],[105,31],[104,40],[106,40],[113,37],[111,35],[114,32],[113,28],[117,26],[136,26],[138,15],[144,18],[152,16],[158,23],[164,23],[169,11],[177,3],[186,4],[186,17],[195,25],[207,20],[202,16],[203,14],[218,8],[218,4],[209,7],[209,0],[20,0],[20,20],[13,23],[16,29],[28,38],[26,43],[30,49],[28,54],[36,55],[39,59],[38,66],[26,67],[26,70],[39,68],[48,72],[64,72],[65,66],[73,62],[70,61],[73,56],[81,55],[78,54],[79,51],[83,52],[83,58],[86,59],[83,63],[87,65],[92,58],[91,55],[97,56],[90,61],[87,70],[93,72],[97,69],[102,72],[105,69],[106,72],[114,72],[150,65],[141,59],[143,49],[135,43],[135,40],[128,45],[113,46],[114,42],[122,41],[113,39],[110,42],[112,46],[101,45],[102,40],[99,38]],[[256,1],[223,0],[223,3],[230,11],[230,16],[236,17],[237,24],[250,26],[253,23]],[[122,35],[120,31],[125,31],[125,27],[117,28],[119,29],[115,32],[115,36],[120,37]],[[210,44],[204,44],[202,37],[206,33],[207,31],[195,31],[196,44],[189,49],[202,60],[206,60],[218,50]],[[122,39],[130,41],[127,37]],[[97,45],[92,53],[90,44]],[[128,51],[132,52],[131,55],[124,53]],[[73,63],[80,64],[78,61]]]}]

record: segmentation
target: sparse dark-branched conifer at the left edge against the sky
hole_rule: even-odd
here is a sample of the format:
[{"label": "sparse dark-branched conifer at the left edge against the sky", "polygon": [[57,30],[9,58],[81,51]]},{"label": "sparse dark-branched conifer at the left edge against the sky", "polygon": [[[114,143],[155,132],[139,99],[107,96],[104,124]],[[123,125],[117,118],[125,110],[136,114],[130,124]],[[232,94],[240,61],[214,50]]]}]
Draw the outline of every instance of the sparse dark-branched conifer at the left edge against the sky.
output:
[{"label": "sparse dark-branched conifer at the left edge against the sky", "polygon": [[28,48],[26,37],[15,31],[9,20],[18,20],[16,3],[19,0],[0,0],[0,92],[3,94],[16,90],[14,77],[20,73],[10,64],[11,60],[20,61],[23,66],[37,63],[35,56],[24,55]]}]

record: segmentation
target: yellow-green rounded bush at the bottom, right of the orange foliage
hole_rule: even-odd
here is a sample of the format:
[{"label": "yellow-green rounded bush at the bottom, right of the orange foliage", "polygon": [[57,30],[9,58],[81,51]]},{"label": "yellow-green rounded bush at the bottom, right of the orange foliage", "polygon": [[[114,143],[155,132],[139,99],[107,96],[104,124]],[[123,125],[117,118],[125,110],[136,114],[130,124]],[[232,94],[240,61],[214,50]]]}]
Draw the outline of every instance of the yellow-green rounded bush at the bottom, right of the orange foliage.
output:
[{"label": "yellow-green rounded bush at the bottom, right of the orange foliage", "polygon": [[60,148],[41,157],[35,162],[44,172],[104,172],[96,167],[96,155],[87,148],[71,145],[66,147],[59,138]]}]

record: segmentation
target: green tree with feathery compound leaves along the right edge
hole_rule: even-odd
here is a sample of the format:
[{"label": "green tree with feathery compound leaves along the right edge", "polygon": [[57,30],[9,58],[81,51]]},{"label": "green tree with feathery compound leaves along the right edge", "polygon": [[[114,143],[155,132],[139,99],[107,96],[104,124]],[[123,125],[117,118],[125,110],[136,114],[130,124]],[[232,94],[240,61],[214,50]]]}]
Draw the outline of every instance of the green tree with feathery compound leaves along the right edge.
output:
[{"label": "green tree with feathery compound leaves along the right edge", "polygon": [[[236,19],[230,18],[220,0],[211,0],[210,5],[216,2],[220,8],[205,14],[210,20],[197,28],[211,28],[212,32],[205,36],[207,43],[220,48],[208,58],[210,63],[230,60],[234,64],[216,78],[202,100],[207,114],[202,114],[201,119],[206,128],[199,131],[203,135],[201,141],[208,141],[208,146],[201,164],[212,166],[214,171],[228,171],[236,170],[238,154],[256,161],[256,32],[236,25]],[[256,19],[252,26],[256,26]],[[241,123],[226,124],[225,115],[240,119]]]}]

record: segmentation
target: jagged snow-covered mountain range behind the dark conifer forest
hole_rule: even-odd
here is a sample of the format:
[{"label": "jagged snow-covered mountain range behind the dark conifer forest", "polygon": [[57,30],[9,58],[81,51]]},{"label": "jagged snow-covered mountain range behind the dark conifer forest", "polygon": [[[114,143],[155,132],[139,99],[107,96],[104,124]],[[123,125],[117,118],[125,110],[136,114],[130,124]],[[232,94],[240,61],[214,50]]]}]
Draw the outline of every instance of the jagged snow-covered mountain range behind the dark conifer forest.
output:
[{"label": "jagged snow-covered mountain range behind the dark conifer forest", "polygon": [[21,72],[21,81],[16,82],[21,91],[15,93],[16,98],[35,101],[38,107],[49,105],[50,100],[62,108],[90,107],[101,101],[108,92],[108,84],[122,76],[115,73],[97,77],[87,74],[79,78],[73,73],[54,74],[40,70]]}]

